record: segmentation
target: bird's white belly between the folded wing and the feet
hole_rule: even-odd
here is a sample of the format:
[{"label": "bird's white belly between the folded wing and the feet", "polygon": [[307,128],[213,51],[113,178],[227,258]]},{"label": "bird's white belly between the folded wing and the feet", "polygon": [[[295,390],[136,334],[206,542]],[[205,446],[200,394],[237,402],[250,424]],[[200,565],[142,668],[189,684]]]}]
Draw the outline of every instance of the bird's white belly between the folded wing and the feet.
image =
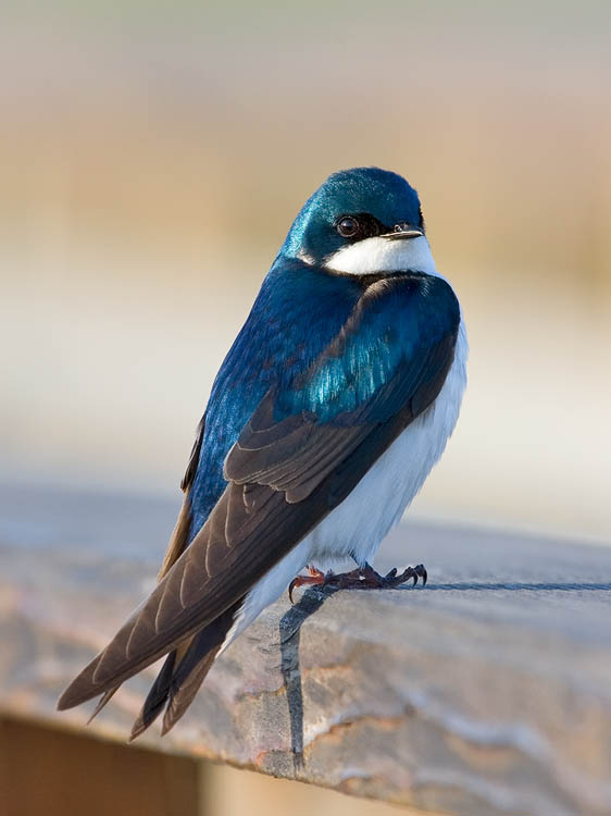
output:
[{"label": "bird's white belly between the folded wing and the feet", "polygon": [[321,569],[352,556],[371,562],[383,539],[400,520],[444,453],[454,430],[466,386],[469,345],[461,320],[454,361],[435,403],[411,423],[361,479],[350,495],[249,592],[223,645],[269,604],[308,565]]}]

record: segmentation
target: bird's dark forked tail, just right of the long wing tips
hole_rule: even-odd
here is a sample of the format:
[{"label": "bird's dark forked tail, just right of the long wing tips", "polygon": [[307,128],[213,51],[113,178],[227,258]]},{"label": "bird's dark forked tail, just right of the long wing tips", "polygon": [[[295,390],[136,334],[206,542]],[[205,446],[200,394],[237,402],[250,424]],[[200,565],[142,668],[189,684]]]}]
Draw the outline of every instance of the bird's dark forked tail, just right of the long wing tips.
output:
[{"label": "bird's dark forked tail, just right of the long wing tips", "polygon": [[146,731],[166,703],[167,708],[163,717],[162,734],[176,725],[212,668],[214,658],[232,628],[235,614],[240,605],[241,598],[198,632],[182,659],[176,651],[167,655],[142,709],[134,722],[129,742]]}]

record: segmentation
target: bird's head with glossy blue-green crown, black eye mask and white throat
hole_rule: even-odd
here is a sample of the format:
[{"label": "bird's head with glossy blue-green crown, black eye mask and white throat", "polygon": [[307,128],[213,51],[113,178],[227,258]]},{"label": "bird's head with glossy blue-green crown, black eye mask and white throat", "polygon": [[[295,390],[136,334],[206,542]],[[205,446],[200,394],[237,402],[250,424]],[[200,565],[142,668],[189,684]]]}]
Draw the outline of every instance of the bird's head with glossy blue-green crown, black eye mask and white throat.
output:
[{"label": "bird's head with glossy blue-green crown, black eye mask and white throat", "polygon": [[280,255],[348,274],[426,272],[433,264],[417,193],[378,168],[331,175],[296,218]]}]

